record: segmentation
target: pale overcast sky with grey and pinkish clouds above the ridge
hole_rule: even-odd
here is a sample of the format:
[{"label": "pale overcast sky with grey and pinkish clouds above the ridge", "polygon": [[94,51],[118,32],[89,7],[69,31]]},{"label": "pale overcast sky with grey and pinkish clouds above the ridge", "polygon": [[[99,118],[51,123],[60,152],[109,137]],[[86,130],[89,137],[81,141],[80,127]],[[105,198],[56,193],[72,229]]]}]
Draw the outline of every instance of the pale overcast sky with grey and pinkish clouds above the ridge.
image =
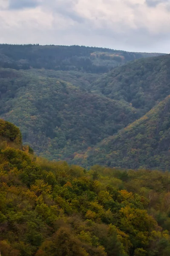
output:
[{"label": "pale overcast sky with grey and pinkish clouds above the ridge", "polygon": [[170,53],[170,0],[0,0],[0,43]]}]

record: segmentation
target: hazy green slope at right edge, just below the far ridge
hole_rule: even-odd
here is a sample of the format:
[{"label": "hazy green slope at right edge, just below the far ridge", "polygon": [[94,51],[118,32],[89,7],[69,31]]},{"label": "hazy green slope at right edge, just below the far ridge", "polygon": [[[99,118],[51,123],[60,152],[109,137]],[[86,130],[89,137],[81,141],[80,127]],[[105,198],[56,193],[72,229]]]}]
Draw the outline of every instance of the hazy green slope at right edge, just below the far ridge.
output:
[{"label": "hazy green slope at right edge, just below the far ridge", "polygon": [[125,100],[149,111],[170,94],[170,55],[145,58],[113,69],[90,88],[95,93]]}]

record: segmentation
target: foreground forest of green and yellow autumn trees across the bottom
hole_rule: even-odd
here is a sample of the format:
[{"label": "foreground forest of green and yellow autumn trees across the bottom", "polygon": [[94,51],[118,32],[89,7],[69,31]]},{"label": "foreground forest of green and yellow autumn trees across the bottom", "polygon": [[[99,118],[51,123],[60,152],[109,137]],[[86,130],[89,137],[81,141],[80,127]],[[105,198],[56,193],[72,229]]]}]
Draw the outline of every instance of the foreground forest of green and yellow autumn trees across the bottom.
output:
[{"label": "foreground forest of green and yellow autumn trees across the bottom", "polygon": [[36,157],[0,120],[2,256],[169,256],[170,173]]}]

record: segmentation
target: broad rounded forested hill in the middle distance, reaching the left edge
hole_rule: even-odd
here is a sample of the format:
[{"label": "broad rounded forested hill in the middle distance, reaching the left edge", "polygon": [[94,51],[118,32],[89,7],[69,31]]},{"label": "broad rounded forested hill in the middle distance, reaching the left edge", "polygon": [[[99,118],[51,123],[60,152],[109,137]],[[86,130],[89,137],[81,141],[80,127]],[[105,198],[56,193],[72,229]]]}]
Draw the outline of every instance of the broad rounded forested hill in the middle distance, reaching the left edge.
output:
[{"label": "broad rounded forested hill in the middle distance, reaching the left edge", "polygon": [[0,74],[1,118],[18,125],[23,141],[50,159],[72,158],[139,116],[126,102],[41,76],[38,70],[5,69]]}]

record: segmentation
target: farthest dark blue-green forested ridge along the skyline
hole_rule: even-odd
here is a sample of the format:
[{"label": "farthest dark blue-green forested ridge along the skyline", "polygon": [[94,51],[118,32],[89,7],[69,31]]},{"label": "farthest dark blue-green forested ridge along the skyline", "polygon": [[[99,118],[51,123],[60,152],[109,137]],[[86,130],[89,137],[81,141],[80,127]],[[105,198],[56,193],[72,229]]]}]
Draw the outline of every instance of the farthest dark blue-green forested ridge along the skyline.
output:
[{"label": "farthest dark blue-green forested ridge along the skyline", "polygon": [[160,53],[125,52],[84,46],[0,44],[0,67],[12,69],[75,70],[106,73],[113,67]]}]

